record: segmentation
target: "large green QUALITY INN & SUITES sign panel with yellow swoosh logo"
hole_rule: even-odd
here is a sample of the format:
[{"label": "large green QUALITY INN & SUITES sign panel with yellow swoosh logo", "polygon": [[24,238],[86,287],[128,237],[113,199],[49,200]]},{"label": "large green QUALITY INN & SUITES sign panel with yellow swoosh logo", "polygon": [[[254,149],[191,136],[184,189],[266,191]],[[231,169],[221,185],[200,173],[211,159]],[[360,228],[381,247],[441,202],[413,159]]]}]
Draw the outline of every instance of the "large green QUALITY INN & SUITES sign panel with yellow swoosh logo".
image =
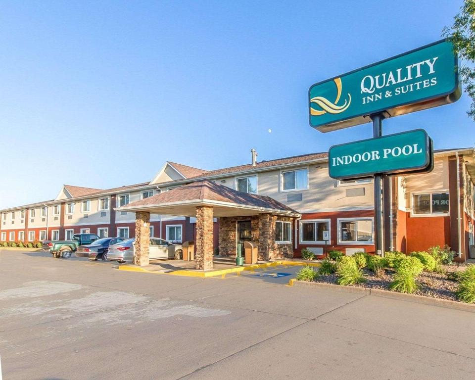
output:
[{"label": "large green QUALITY INN & SUITES sign panel with yellow swoosh logo", "polygon": [[446,40],[317,83],[309,90],[309,122],[330,132],[459,99],[457,57]]}]

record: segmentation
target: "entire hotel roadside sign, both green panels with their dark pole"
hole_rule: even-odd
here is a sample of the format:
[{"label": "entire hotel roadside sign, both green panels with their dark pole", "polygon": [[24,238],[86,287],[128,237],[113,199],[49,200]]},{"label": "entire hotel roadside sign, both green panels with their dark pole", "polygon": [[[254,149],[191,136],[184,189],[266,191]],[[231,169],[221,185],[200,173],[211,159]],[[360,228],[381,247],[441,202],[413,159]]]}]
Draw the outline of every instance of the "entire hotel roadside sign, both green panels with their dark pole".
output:
[{"label": "entire hotel roadside sign, both green panels with their dark pole", "polygon": [[373,139],[330,148],[329,174],[340,180],[374,179],[378,254],[384,253],[383,177],[430,172],[433,168],[433,143],[425,131],[383,137],[382,120],[449,104],[461,94],[458,59],[449,40],[310,87],[309,123],[318,131],[331,132],[373,122]]}]

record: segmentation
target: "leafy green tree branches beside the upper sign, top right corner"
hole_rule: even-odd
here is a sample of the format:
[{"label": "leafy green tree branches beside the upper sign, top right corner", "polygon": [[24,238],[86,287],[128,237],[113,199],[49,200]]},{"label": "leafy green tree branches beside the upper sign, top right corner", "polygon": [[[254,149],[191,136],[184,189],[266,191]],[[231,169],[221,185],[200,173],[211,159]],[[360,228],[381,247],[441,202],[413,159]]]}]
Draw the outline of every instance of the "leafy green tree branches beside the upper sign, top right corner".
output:
[{"label": "leafy green tree branches beside the upper sign, top right corner", "polygon": [[460,13],[454,17],[453,25],[442,30],[454,44],[455,52],[466,63],[459,67],[459,75],[465,92],[472,98],[467,114],[475,120],[475,0],[465,0]]}]

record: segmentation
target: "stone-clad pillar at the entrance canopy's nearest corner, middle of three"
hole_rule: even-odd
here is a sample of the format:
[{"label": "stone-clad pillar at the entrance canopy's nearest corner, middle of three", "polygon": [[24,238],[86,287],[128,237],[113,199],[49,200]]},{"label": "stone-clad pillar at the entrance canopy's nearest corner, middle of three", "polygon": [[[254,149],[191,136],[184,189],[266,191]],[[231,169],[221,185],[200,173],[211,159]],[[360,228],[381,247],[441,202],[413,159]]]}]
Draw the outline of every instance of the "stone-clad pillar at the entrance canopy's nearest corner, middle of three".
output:
[{"label": "stone-clad pillar at the entrance canopy's nearest corner, middle of three", "polygon": [[213,207],[196,207],[196,269],[213,269]]}]

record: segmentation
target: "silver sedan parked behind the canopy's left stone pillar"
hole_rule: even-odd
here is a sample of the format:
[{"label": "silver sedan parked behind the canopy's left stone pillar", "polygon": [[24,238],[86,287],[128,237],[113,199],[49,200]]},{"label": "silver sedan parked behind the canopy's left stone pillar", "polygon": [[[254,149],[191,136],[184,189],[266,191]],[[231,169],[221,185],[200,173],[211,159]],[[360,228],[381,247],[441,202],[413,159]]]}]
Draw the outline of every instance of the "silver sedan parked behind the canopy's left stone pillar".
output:
[{"label": "silver sedan parked behind the canopy's left stone pillar", "polygon": [[[135,251],[135,238],[123,240],[118,244],[111,245],[107,254],[107,260],[119,263],[132,262]],[[150,238],[148,258],[154,259],[181,259],[183,248],[180,244],[174,244],[160,238]]]}]

